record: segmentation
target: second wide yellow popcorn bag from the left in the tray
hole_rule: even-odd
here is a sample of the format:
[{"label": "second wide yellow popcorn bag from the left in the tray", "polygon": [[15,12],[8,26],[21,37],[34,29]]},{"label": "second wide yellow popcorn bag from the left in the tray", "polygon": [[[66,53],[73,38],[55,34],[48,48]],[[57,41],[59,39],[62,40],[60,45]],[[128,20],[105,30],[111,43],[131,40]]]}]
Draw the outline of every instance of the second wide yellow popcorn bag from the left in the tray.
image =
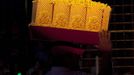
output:
[{"label": "second wide yellow popcorn bag from the left in the tray", "polygon": [[54,4],[52,27],[67,28],[69,22],[70,3],[67,0],[56,0]]}]

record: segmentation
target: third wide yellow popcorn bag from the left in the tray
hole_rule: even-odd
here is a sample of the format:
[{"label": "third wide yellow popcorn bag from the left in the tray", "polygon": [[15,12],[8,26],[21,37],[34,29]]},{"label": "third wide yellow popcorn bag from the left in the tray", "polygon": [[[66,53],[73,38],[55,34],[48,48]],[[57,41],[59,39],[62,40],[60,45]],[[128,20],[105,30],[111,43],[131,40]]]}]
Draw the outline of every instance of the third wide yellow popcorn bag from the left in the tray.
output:
[{"label": "third wide yellow popcorn bag from the left in the tray", "polygon": [[86,6],[84,3],[72,3],[70,11],[69,28],[75,30],[85,29]]}]

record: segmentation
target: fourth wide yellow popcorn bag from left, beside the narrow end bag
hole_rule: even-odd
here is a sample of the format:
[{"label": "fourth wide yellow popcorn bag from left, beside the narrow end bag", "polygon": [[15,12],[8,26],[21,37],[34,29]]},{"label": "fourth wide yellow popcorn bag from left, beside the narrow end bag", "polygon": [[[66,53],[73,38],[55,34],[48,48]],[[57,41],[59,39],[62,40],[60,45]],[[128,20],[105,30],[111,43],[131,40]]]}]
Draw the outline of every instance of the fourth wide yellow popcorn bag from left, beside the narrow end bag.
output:
[{"label": "fourth wide yellow popcorn bag from left, beside the narrow end bag", "polygon": [[97,2],[91,2],[87,6],[86,15],[86,30],[99,32],[101,30],[101,22],[103,17],[103,10]]}]

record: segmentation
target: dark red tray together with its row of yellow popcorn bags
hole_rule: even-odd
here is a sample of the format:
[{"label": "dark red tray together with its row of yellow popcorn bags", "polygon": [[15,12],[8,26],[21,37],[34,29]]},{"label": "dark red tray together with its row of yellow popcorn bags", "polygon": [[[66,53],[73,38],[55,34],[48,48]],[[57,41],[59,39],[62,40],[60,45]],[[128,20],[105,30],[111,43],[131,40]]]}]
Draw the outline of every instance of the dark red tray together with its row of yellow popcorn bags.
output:
[{"label": "dark red tray together with its row of yellow popcorn bags", "polygon": [[68,0],[59,0],[58,3],[34,1],[29,26],[31,39],[99,44],[99,31],[108,30],[110,7],[97,2],[73,1],[71,6]]}]

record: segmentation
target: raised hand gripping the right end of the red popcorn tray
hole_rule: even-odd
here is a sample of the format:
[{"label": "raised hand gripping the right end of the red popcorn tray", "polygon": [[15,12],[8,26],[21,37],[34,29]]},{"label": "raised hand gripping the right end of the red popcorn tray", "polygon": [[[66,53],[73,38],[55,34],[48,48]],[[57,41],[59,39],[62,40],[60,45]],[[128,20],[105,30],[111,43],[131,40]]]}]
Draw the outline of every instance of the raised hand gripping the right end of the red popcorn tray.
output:
[{"label": "raised hand gripping the right end of the red popcorn tray", "polygon": [[101,31],[99,33],[98,48],[99,48],[99,50],[105,51],[105,52],[112,50],[112,45],[111,45],[111,40],[110,40],[110,32]]}]

